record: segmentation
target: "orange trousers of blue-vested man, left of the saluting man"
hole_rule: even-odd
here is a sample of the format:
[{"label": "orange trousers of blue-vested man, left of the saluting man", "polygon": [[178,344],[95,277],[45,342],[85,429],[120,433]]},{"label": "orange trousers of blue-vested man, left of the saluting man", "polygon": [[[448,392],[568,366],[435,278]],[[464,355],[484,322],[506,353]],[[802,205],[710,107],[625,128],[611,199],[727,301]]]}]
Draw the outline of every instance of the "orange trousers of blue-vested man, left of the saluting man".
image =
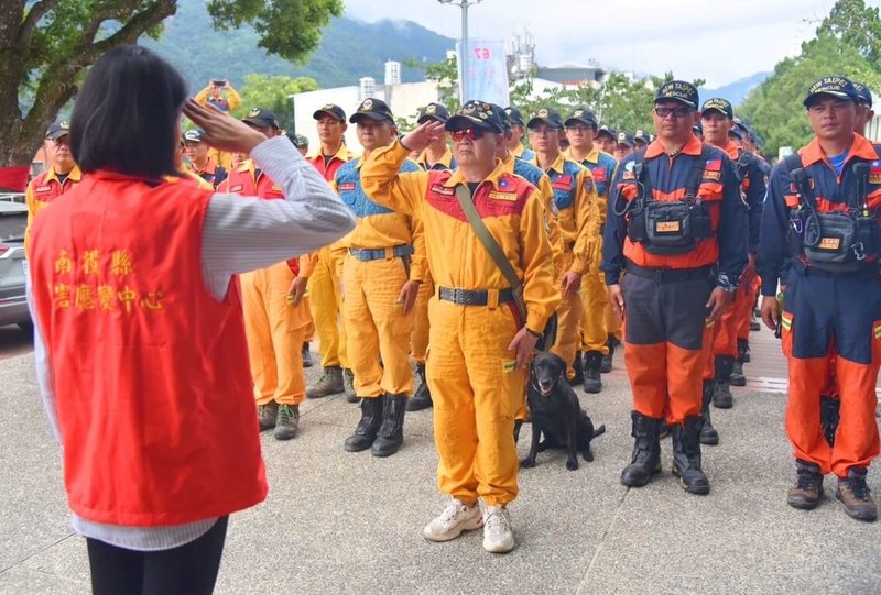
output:
[{"label": "orange trousers of blue-vested man, left of the saluting man", "polygon": [[409,357],[414,317],[412,310],[404,316],[399,301],[406,280],[401,258],[358,261],[346,254],[342,317],[359,397],[413,395]]}]

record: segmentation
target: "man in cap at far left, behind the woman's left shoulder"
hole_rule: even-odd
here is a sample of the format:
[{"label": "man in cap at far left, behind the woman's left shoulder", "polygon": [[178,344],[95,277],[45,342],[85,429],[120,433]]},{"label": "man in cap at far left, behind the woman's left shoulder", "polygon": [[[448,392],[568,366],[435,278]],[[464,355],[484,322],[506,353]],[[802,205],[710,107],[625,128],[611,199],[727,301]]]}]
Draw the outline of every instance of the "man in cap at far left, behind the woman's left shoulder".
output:
[{"label": "man in cap at far left, behind the woman's left shoulder", "polygon": [[70,123],[67,120],[53,122],[46,130],[43,152],[46,169],[28,184],[24,200],[28,203],[28,227],[24,229],[24,245],[31,235],[34,218],[50,202],[79,184],[83,173],[70,153]]}]

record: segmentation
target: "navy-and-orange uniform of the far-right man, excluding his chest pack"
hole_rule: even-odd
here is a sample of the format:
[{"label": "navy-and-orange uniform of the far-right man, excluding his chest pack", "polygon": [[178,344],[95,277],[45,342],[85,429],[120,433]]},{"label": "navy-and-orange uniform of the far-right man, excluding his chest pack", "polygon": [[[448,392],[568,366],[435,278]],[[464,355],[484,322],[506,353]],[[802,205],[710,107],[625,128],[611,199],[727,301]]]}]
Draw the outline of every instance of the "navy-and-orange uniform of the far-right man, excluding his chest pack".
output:
[{"label": "navy-and-orange uniform of the far-right man, excluding his chest pack", "polygon": [[[817,212],[846,213],[848,200],[858,199],[860,210],[880,219],[881,151],[869,141],[853,135],[840,172],[816,139],[798,154]],[[866,196],[858,196],[853,166],[859,163],[869,167]],[[762,213],[757,271],[763,296],[775,296],[779,280],[785,287],[780,324],[788,360],[786,433],[795,458],[819,465],[822,473],[845,477],[851,466],[868,466],[879,454],[874,419],[881,366],[879,260],[868,256],[853,273],[826,273],[815,268],[804,253],[794,253],[790,233],[800,230],[793,229],[791,218],[805,208],[802,202],[786,164],[774,166]],[[834,447],[824,439],[819,422],[819,396],[830,383],[830,357],[840,398]]]}]

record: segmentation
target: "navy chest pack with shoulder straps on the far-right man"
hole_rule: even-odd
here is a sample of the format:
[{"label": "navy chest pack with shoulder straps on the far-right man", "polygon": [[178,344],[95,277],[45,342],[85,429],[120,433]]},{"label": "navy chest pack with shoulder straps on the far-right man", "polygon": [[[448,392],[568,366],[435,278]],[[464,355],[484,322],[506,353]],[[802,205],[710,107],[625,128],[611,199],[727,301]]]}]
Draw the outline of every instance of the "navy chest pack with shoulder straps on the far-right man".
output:
[{"label": "navy chest pack with shoulder straps on the far-right man", "polygon": [[[869,210],[866,187],[869,165],[852,166],[858,179],[857,196],[848,197],[847,211],[818,212],[814,189],[797,154],[785,159],[798,192],[798,208],[790,210],[787,242],[796,260],[809,271],[835,275],[875,269],[867,263],[881,256],[881,229],[877,213]],[[862,206],[860,206],[862,203]]]}]

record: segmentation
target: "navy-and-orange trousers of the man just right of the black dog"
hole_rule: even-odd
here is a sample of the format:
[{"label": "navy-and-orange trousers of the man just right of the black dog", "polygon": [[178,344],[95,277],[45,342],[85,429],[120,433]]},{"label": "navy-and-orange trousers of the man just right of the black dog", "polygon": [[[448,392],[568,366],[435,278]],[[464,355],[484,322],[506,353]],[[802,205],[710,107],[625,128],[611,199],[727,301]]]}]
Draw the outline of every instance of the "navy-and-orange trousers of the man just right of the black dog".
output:
[{"label": "navy-and-orange trousers of the man just right of the black dog", "polygon": [[628,274],[624,365],[633,408],[668,425],[700,415],[710,279],[659,280]]}]

